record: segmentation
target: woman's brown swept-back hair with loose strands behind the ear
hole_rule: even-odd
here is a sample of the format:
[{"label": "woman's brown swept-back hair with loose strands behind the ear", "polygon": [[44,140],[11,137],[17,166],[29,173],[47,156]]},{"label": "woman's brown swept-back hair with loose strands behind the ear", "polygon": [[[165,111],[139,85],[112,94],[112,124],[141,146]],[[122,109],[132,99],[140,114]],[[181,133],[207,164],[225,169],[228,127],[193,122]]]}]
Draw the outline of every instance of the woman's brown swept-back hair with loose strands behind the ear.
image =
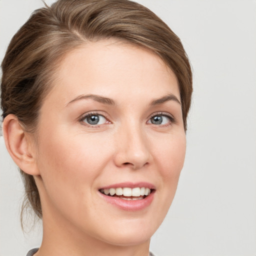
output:
[{"label": "woman's brown swept-back hair with loose strands behind the ear", "polygon": [[[186,131],[192,93],[188,57],[180,39],[159,17],[129,0],[58,0],[35,10],[12,37],[1,64],[2,117],[14,114],[24,131],[35,133],[40,106],[64,54],[88,41],[107,38],[149,49],[172,69]],[[42,210],[33,176],[19,171],[25,188],[22,224],[27,206],[39,218]]]}]

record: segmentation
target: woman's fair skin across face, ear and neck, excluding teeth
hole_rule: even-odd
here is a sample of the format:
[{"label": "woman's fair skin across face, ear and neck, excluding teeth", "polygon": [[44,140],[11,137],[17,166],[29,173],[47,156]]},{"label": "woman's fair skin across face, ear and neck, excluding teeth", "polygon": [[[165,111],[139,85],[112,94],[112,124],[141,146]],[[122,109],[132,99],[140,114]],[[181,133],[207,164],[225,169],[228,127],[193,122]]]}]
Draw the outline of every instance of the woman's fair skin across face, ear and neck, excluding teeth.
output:
[{"label": "woman's fair skin across face, ear and neck, excluding teeth", "polygon": [[[34,137],[14,115],[3,123],[7,149],[41,198],[35,255],[148,255],[185,155],[174,73],[149,50],[108,39],[68,52],[54,81]],[[117,187],[151,193],[102,193]]]}]

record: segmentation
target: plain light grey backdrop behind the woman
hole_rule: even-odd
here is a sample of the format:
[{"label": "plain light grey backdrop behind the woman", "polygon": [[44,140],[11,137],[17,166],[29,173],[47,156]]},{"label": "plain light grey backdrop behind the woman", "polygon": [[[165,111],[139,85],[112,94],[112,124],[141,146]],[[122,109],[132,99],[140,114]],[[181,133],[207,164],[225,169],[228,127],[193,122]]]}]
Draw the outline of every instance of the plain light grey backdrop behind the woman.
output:
[{"label": "plain light grey backdrop behind the woman", "polygon": [[[194,75],[185,164],[151,250],[158,256],[255,256],[256,1],[138,2],[181,38]],[[0,59],[12,35],[41,6],[40,0],[0,0]],[[40,225],[21,231],[22,194],[1,136],[0,256],[25,255],[40,245]]]}]

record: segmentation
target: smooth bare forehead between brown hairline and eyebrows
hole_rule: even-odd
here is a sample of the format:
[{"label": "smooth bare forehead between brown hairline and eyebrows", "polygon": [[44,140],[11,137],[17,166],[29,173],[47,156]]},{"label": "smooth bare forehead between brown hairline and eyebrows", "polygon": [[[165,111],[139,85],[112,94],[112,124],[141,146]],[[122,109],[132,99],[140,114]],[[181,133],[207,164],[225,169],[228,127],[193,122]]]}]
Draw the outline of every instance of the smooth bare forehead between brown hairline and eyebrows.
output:
[{"label": "smooth bare forehead between brown hairline and eyebrows", "polygon": [[[78,94],[162,96],[178,99],[175,74],[156,54],[134,44],[116,40],[88,42],[64,55],[55,74],[50,96],[68,101]],[[157,95],[159,94],[159,95]]]}]

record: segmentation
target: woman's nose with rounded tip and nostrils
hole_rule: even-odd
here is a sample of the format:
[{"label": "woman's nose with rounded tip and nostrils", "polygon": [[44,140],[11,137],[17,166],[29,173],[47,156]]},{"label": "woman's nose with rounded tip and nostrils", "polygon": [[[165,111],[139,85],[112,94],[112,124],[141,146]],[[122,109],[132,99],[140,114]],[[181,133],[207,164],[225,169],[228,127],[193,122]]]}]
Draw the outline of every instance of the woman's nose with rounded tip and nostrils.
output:
[{"label": "woman's nose with rounded tip and nostrils", "polygon": [[125,125],[116,136],[115,165],[140,169],[151,160],[150,148],[145,132],[141,127]]}]

